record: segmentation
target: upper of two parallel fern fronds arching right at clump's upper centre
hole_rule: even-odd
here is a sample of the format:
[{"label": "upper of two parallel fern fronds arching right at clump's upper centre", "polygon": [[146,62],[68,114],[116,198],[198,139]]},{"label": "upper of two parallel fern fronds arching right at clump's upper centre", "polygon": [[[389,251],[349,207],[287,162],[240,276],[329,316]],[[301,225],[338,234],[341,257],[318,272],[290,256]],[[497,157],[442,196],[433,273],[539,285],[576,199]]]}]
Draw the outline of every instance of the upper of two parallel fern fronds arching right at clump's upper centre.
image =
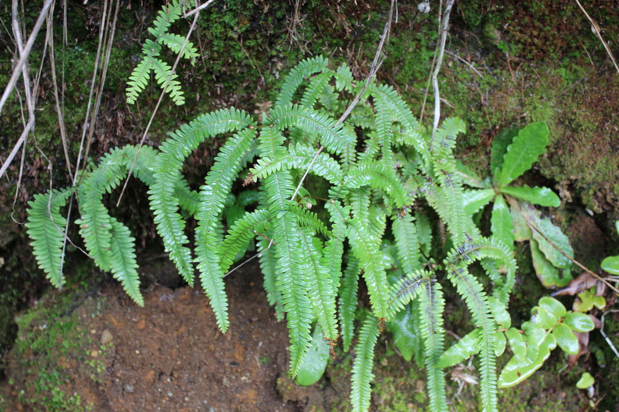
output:
[{"label": "upper of two parallel fern fronds arching right at clump's upper centre", "polygon": [[321,145],[330,153],[340,154],[344,146],[351,140],[350,135],[342,132],[342,124],[335,125],[335,120],[319,111],[308,107],[275,106],[269,112],[267,124],[273,124],[279,130],[297,127],[310,136],[318,135]]}]

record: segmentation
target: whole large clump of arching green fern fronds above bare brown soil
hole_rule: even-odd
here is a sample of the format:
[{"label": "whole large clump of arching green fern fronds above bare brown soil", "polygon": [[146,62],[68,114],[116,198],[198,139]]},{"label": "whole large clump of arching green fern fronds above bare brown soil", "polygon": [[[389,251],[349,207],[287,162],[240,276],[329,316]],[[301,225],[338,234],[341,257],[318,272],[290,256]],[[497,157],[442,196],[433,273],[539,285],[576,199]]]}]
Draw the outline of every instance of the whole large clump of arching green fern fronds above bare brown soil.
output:
[{"label": "whole large clump of arching green fern fronds above bare brown soil", "polygon": [[[309,82],[301,90],[305,79]],[[327,59],[313,57],[285,77],[261,125],[231,107],[182,125],[158,150],[142,148],[134,174],[149,186],[157,232],[190,285],[197,264],[222,332],[230,325],[223,278],[248,248],[258,248],[269,303],[279,317],[285,316],[290,331],[293,377],[304,368],[313,324],[324,336],[324,343],[314,344],[333,348],[341,337],[345,350],[352,345],[363,279],[370,308],[355,345],[353,410],[368,410],[374,345],[383,326],[398,322],[403,310],[418,314],[415,327],[423,350],[416,358],[428,372],[430,410],[447,410],[443,368],[474,353],[481,358],[482,408],[496,410],[495,357],[505,339],[497,314],[508,303],[516,266],[507,246],[482,237],[465,213],[462,179],[452,154],[464,125],[447,119],[432,140],[396,91],[377,83],[365,90],[348,119],[337,124],[335,119],[361,87],[345,64],[332,70]],[[220,135],[228,138],[204,185],[189,190],[181,176],[184,159]],[[324,151],[316,154],[318,146]],[[81,214],[77,222],[89,254],[142,305],[134,239],[102,204],[103,193],[126,176],[135,153],[133,146],[114,149],[75,190]],[[249,174],[248,164],[253,164]],[[306,170],[308,179],[300,185]],[[236,197],[236,209],[253,206],[233,219],[228,216],[224,225],[224,209],[234,203],[230,191],[237,179],[245,179],[248,191]],[[60,279],[62,242],[50,217],[63,225],[58,210],[67,193],[53,193],[51,213],[48,195],[38,195],[29,211],[37,259],[54,285]],[[185,233],[191,216],[197,220],[194,252]],[[446,223],[452,245],[441,264],[426,257],[432,242],[430,222],[438,218]],[[491,293],[483,287],[488,282],[467,270],[474,261],[487,271]],[[468,340],[447,351],[444,281],[456,287],[476,327]],[[471,341],[475,345],[463,350]]]}]

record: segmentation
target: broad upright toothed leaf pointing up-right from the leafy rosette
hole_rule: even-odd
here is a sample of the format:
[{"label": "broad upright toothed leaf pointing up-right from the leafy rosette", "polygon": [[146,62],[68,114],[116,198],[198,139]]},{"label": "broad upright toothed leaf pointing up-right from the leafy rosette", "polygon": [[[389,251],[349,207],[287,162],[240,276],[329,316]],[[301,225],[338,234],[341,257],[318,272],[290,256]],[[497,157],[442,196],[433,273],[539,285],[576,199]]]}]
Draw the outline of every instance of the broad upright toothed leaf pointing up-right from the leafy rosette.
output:
[{"label": "broad upright toothed leaf pointing up-right from the leafy rosette", "polygon": [[536,122],[519,130],[503,156],[499,187],[509,185],[529,170],[548,145],[550,131],[544,122]]}]

